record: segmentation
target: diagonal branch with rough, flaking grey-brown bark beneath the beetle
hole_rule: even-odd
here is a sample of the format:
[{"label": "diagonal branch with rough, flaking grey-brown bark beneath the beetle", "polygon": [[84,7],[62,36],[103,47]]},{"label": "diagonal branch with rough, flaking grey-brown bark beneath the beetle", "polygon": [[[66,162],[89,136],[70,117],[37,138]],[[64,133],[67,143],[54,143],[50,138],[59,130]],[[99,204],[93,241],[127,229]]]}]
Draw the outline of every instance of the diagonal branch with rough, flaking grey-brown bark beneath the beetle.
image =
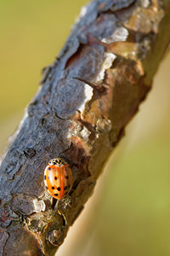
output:
[{"label": "diagonal branch with rough, flaking grey-brown bark beneath the beetle", "polygon": [[[150,90],[169,39],[169,0],[94,0],[82,9],[3,155],[0,255],[54,255]],[[56,156],[69,160],[74,183],[51,203],[43,172]]]}]

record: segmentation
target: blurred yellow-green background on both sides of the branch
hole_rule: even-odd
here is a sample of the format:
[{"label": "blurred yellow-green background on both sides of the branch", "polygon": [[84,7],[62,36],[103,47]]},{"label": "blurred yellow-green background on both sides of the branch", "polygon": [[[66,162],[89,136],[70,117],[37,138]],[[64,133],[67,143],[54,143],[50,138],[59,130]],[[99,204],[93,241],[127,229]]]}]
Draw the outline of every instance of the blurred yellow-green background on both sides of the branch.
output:
[{"label": "blurred yellow-green background on both sides of the branch", "polygon": [[[0,0],[0,152],[87,1]],[[57,255],[170,255],[170,55]]]}]

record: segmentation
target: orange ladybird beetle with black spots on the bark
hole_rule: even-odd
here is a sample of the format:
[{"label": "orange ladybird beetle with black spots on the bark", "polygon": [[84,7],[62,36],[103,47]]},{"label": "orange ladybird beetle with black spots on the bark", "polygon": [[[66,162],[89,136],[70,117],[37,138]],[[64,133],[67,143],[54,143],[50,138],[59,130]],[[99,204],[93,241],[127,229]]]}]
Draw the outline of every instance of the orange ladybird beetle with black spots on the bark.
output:
[{"label": "orange ladybird beetle with black spots on the bark", "polygon": [[44,184],[49,195],[62,199],[71,191],[71,166],[62,158],[55,158],[48,162],[44,171]]}]

